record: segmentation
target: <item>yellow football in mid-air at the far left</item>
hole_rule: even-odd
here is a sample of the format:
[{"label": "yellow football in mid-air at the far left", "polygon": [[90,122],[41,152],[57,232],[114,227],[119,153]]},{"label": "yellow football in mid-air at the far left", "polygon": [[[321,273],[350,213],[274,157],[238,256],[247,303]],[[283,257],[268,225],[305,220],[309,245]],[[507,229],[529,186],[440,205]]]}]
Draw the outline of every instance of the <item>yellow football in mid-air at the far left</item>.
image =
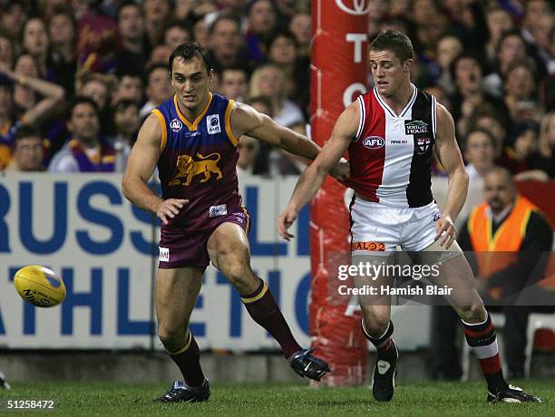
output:
[{"label": "yellow football in mid-air at the far left", "polygon": [[29,265],[15,273],[15,289],[29,304],[37,307],[59,305],[65,298],[65,285],[60,276],[47,267]]}]

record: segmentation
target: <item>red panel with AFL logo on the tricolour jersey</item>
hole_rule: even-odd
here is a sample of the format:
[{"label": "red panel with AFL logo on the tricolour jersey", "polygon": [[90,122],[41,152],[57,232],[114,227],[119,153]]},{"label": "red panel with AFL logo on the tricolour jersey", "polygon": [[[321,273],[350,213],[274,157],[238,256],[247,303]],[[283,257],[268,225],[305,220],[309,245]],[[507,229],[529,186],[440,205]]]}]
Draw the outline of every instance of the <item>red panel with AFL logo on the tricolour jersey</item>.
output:
[{"label": "red panel with AFL logo on the tricolour jersey", "polygon": [[349,186],[369,201],[379,202],[376,190],[382,184],[385,165],[385,112],[373,91],[363,96],[365,125],[357,141],[349,146]]}]

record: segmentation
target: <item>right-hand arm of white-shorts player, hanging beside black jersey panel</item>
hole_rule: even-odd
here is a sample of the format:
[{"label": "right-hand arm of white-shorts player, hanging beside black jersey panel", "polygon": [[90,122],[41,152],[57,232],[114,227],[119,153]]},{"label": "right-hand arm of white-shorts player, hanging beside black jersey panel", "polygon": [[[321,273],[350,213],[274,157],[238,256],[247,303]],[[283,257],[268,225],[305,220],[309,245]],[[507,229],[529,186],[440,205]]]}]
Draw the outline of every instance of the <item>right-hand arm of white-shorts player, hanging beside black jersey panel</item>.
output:
[{"label": "right-hand arm of white-shorts player, hanging beside black jersey panel", "polygon": [[[440,245],[449,248],[455,238],[454,220],[463,208],[468,194],[469,177],[464,170],[463,156],[455,140],[454,121],[441,104],[437,104],[437,134],[435,138],[437,157],[449,174],[447,201],[442,218],[435,222],[435,239],[442,238]],[[445,232],[445,233],[443,233]]]}]

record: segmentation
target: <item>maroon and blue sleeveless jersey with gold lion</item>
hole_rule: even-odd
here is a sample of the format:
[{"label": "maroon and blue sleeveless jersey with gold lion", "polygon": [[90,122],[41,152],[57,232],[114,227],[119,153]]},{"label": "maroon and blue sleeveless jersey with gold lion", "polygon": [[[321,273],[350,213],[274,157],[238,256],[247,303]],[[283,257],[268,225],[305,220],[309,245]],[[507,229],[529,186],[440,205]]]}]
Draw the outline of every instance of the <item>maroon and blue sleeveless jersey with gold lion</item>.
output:
[{"label": "maroon and blue sleeveless jersey with gold lion", "polygon": [[201,232],[216,227],[222,216],[243,209],[237,179],[238,139],[229,117],[233,101],[209,94],[195,121],[180,113],[177,97],[152,111],[161,121],[158,171],[163,199],[189,199],[164,228]]}]

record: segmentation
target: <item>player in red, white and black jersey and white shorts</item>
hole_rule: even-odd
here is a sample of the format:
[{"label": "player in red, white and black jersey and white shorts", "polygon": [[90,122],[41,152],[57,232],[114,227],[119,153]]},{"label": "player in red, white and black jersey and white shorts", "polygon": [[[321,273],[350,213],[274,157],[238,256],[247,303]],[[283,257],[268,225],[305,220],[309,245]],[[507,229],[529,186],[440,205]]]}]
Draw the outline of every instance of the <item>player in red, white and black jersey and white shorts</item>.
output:
[{"label": "player in red, white and black jersey and white shorts", "polygon": [[[375,88],[358,97],[337,119],[331,138],[298,179],[288,207],[279,216],[279,234],[287,240],[293,237],[287,228],[348,150],[349,186],[355,190],[350,208],[352,264],[369,257],[391,262],[397,246],[411,251],[421,262],[433,254],[436,260],[439,257],[440,273],[434,284],[453,288],[447,301],[463,320],[466,340],[480,360],[488,384],[487,401],[540,402],[503,378],[492,320],[454,240],[453,222],[463,208],[469,179],[455,141],[453,117],[432,95],[411,83],[412,57],[410,39],[397,31],[379,34],[370,44]],[[449,174],[443,212],[431,191],[434,146]],[[354,278],[356,285],[361,282],[361,277]],[[387,279],[379,278],[378,282]],[[391,298],[359,296],[359,304],[362,331],[378,351],[374,398],[390,401],[398,357],[391,337]]]}]

